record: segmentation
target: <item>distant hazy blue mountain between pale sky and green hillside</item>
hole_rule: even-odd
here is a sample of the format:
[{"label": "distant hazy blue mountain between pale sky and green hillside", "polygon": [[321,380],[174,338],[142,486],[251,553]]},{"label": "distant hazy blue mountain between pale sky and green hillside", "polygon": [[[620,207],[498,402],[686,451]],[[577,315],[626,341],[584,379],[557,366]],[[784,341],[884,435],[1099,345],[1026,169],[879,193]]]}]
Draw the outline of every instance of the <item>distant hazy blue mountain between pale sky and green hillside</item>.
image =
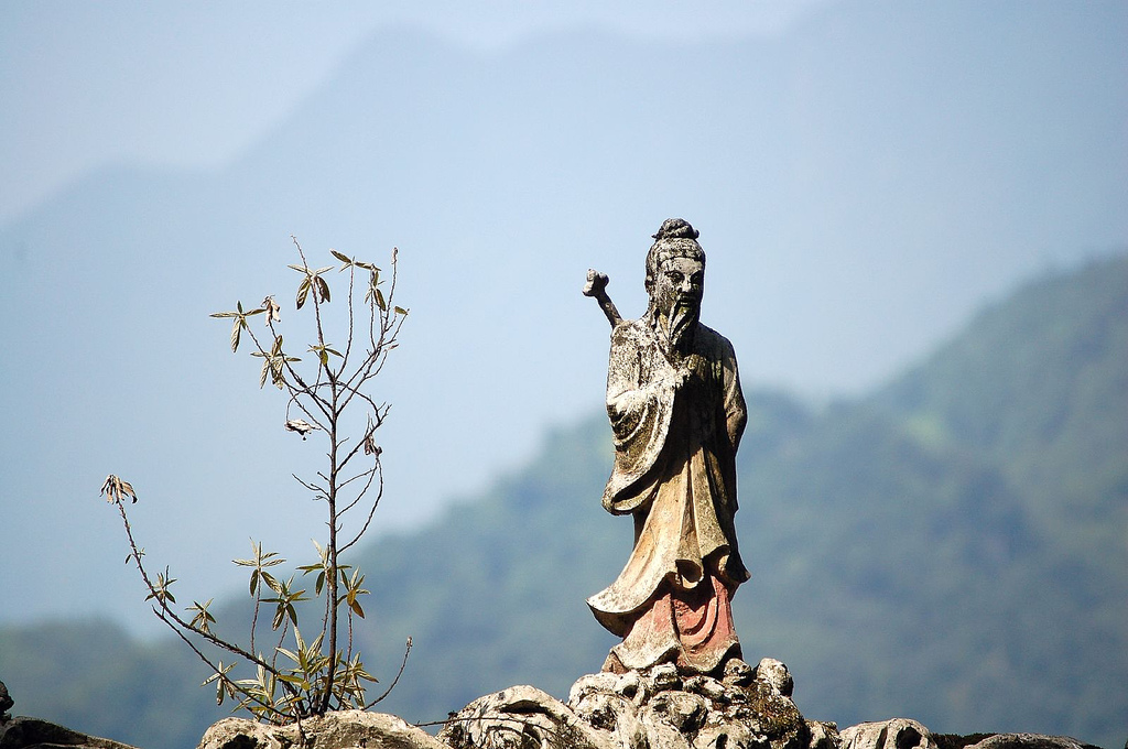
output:
[{"label": "distant hazy blue mountain between pale sky and green hillside", "polygon": [[[641,311],[649,235],[670,215],[703,231],[706,319],[746,380],[814,394],[856,393],[985,294],[1123,243],[1126,99],[1102,85],[1125,77],[1122,9],[858,8],[770,42],[571,30],[479,54],[393,32],[222,168],[105,167],[6,224],[18,282],[0,292],[0,335],[20,353],[0,393],[20,429],[0,450],[5,485],[36,497],[10,503],[10,544],[32,557],[50,527],[90,571],[68,582],[62,556],[44,559],[12,582],[20,599],[125,608],[94,540],[112,519],[83,499],[109,472],[192,529],[149,538],[210,588],[224,565],[190,537],[226,558],[257,522],[306,548],[305,526],[272,512],[293,496],[274,467],[302,453],[281,432],[243,439],[279,404],[253,395],[253,368],[206,317],[292,302],[290,233],[323,255],[400,249],[412,316],[381,377],[385,527],[485,486],[593,403],[606,329],[576,289],[599,267],[619,309]],[[238,516],[209,523],[219,512]]]}]

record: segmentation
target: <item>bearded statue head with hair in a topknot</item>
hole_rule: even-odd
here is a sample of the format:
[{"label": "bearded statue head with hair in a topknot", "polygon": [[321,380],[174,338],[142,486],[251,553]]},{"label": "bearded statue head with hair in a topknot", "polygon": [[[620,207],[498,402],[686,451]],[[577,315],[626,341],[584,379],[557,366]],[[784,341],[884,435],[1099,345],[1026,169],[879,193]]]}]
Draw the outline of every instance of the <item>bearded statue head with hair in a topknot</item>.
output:
[{"label": "bearded statue head with hair in a topknot", "polygon": [[685,219],[667,219],[646,254],[649,314],[675,344],[696,327],[705,291],[705,252]]}]

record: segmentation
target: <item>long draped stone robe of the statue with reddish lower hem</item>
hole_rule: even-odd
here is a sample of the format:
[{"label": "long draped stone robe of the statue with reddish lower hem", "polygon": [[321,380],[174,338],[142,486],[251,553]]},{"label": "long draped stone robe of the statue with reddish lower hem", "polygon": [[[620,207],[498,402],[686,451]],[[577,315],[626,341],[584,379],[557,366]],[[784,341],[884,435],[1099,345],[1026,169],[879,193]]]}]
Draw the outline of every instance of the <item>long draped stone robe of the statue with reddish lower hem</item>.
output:
[{"label": "long draped stone robe of the statue with reddish lower hem", "polygon": [[[676,367],[690,372],[681,385]],[[615,467],[603,508],[634,516],[635,545],[618,579],[588,599],[624,638],[605,668],[673,661],[713,671],[739,655],[731,598],[749,576],[732,522],[747,420],[732,344],[698,324],[688,353],[678,354],[666,350],[652,316],[616,326],[607,412]]]}]

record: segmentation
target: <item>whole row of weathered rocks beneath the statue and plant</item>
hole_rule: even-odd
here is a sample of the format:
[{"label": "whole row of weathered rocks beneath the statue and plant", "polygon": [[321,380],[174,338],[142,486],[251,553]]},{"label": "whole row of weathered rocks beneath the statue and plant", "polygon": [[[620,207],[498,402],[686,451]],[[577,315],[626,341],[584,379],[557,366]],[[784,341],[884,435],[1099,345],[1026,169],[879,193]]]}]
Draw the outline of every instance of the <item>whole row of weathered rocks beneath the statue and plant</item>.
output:
[{"label": "whole row of weathered rocks beneath the statue and plant", "polygon": [[[197,749],[1099,749],[1033,733],[933,734],[905,717],[839,732],[804,719],[793,689],[787,667],[769,658],[756,668],[731,660],[720,679],[661,664],[582,677],[566,703],[529,686],[486,695],[452,713],[438,737],[395,715],[338,711],[292,725],[228,717]],[[9,717],[0,749],[134,748]]]}]

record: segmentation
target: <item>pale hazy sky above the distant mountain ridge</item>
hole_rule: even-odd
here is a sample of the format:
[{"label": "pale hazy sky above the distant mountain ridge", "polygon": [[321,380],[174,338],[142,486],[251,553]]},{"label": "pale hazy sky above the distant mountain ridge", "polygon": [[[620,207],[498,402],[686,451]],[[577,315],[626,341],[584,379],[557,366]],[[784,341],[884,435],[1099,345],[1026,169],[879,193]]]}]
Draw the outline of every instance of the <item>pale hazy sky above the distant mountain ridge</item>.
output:
[{"label": "pale hazy sky above the distant mountain ridge", "polygon": [[106,162],[223,165],[381,27],[482,51],[578,26],[694,42],[778,34],[829,1],[6,2],[0,224]]}]

